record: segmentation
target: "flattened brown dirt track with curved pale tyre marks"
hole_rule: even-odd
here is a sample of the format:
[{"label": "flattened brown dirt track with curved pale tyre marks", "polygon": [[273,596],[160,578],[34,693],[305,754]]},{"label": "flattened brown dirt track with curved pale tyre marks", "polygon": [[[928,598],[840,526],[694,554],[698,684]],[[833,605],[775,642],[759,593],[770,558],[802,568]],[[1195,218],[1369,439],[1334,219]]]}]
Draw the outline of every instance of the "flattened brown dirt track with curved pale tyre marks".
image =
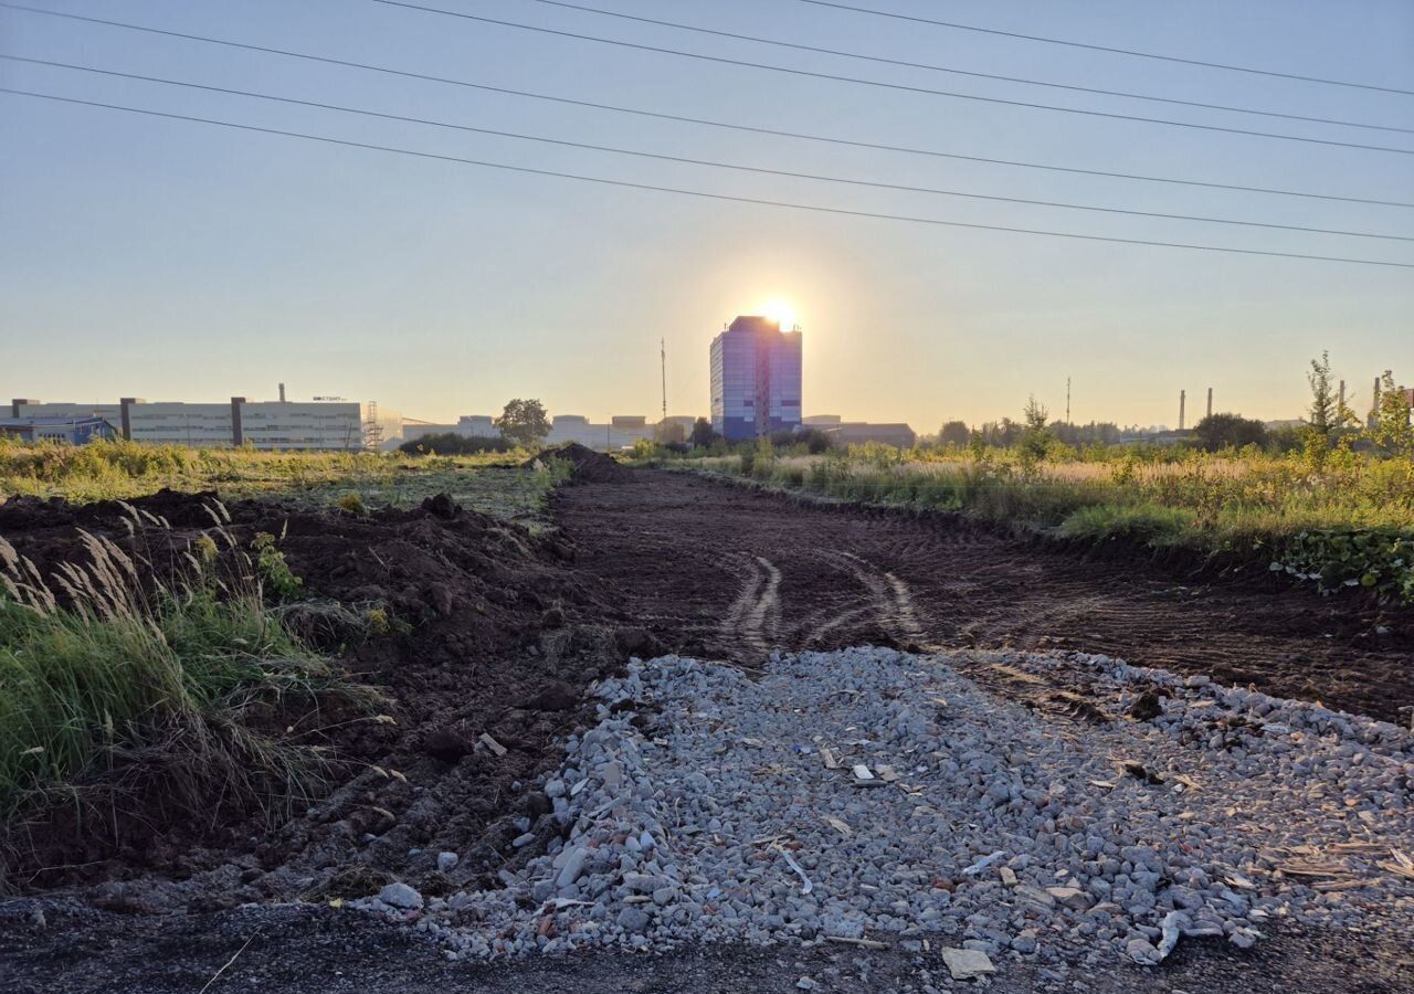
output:
[{"label": "flattened brown dirt track with curved pale tyre marks", "polygon": [[1376,616],[1267,577],[1189,578],[959,519],[831,509],[674,472],[556,501],[577,567],[684,652],[749,666],[773,646],[1075,649],[1387,721],[1414,704],[1414,615]]}]

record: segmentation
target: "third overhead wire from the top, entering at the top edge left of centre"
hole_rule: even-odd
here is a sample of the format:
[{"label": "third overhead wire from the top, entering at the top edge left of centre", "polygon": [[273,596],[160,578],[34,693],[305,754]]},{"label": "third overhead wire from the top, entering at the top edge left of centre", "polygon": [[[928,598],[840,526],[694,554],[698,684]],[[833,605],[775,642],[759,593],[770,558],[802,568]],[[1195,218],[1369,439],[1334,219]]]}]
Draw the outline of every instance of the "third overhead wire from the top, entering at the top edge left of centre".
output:
[{"label": "third overhead wire from the top, entering at the top edge left of centre", "polygon": [[1141,122],[1145,124],[1165,124],[1168,127],[1188,127],[1199,131],[1220,131],[1223,134],[1243,134],[1254,139],[1275,139],[1280,141],[1301,141],[1305,144],[1318,146],[1333,146],[1338,148],[1359,148],[1363,151],[1383,151],[1394,156],[1414,156],[1414,148],[1394,148],[1390,146],[1370,146],[1357,141],[1336,141],[1335,139],[1312,139],[1301,134],[1281,134],[1277,131],[1257,131],[1247,127],[1226,127],[1223,124],[1198,124],[1188,120],[1172,120],[1169,117],[1144,117],[1143,115],[1121,115],[1110,110],[1085,110],[1080,107],[1062,107],[1053,103],[1032,103],[1029,100],[1010,100],[1000,96],[978,96],[976,93],[957,93],[954,90],[943,89],[929,89],[928,86],[909,86],[906,83],[889,83],[881,79],[865,79],[863,76],[844,76],[834,72],[814,72],[810,69],[795,69],[785,65],[766,65],[762,62],[751,62],[748,59],[734,59],[724,55],[704,55],[703,52],[686,52],[680,48],[665,48],[662,45],[648,45],[638,41],[624,41],[621,38],[601,38],[594,34],[583,34],[578,31],[563,31],[560,28],[547,28],[537,24],[520,24],[519,21],[503,21],[496,17],[482,17],[481,14],[468,14],[460,10],[445,10],[443,7],[427,7],[424,4],[407,3],[407,0],[373,0],[373,3],[380,3],[387,7],[403,7],[406,10],[419,10],[427,14],[443,14],[445,17],[458,17],[465,21],[477,21],[479,24],[495,24],[498,27],[515,28],[518,31],[534,31],[537,34],[549,34],[557,38],[574,38],[577,41],[592,41],[600,45],[615,45],[618,48],[632,48],[642,52],[658,52],[660,55],[677,55],[680,58],[699,59],[701,62],[715,62],[718,65],[735,65],[745,69],[761,69],[764,72],[783,72],[792,76],[807,76],[810,79],[829,79],[840,83],[853,83],[857,86],[875,86],[880,89],[901,90],[905,93],[922,93],[928,96],[946,96],[956,100],[977,100],[981,103],[1000,103],[1010,107],[1028,107],[1031,110],[1052,110],[1056,113],[1068,115],[1083,115],[1086,117],[1107,117],[1110,120],[1127,120],[1127,122]]}]

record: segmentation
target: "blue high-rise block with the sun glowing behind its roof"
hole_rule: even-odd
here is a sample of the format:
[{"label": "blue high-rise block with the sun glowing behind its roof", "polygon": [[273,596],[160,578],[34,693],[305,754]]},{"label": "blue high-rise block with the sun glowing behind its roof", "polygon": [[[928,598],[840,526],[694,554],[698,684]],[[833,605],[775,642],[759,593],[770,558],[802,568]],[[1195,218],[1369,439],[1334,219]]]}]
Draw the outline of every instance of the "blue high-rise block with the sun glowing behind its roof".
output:
[{"label": "blue high-rise block with the sun glowing behind its roof", "polygon": [[800,331],[738,317],[711,342],[711,426],[728,441],[800,426]]}]

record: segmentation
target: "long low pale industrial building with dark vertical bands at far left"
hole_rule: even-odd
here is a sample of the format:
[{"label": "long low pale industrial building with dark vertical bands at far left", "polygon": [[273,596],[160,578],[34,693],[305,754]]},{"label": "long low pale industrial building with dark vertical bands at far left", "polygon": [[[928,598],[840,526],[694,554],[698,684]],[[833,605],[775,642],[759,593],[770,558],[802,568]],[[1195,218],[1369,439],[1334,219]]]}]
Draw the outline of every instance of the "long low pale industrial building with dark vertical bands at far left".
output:
[{"label": "long low pale industrial building with dark vertical bands at far left", "polygon": [[[147,402],[123,397],[116,404],[41,403],[16,399],[10,403],[10,424],[41,426],[57,420],[99,419],[113,434],[132,441],[191,445],[197,448],[239,448],[280,451],[358,451],[378,437],[385,421],[373,404],[348,400],[252,402],[232,397],[225,403]],[[396,417],[396,416],[393,416]],[[378,426],[378,427],[375,427]],[[55,435],[58,437],[58,435]],[[96,435],[75,434],[74,441]]]}]

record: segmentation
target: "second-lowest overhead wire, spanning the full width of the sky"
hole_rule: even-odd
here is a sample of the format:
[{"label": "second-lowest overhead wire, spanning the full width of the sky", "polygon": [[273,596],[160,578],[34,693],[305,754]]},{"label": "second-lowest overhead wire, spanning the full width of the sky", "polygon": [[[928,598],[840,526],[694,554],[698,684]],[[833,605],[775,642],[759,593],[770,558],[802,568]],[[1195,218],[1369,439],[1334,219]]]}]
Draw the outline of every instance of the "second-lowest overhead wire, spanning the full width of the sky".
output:
[{"label": "second-lowest overhead wire, spanning the full width of the sky", "polygon": [[303,99],[293,98],[293,96],[279,96],[276,93],[260,93],[260,92],[256,92],[256,90],[235,89],[235,88],[230,88],[230,86],[212,86],[212,85],[208,85],[208,83],[195,83],[195,82],[189,82],[189,81],[184,81],[184,79],[168,79],[168,78],[164,78],[164,76],[148,76],[148,75],[143,75],[143,74],[137,74],[137,72],[119,72],[117,69],[100,69],[100,68],[96,68],[96,66],[76,65],[74,62],[57,62],[57,61],[52,61],[52,59],[37,59],[37,58],[28,58],[28,57],[24,57],[24,55],[10,55],[7,52],[0,52],[0,59],[6,59],[6,61],[10,61],[10,62],[25,62],[25,64],[30,64],[30,65],[45,65],[45,66],[54,66],[54,68],[61,68],[61,69],[76,69],[79,72],[92,72],[92,74],[98,74],[98,75],[103,75],[103,76],[116,76],[116,78],[120,78],[120,79],[137,79],[137,81],[148,82],[148,83],[163,83],[165,86],[182,86],[182,88],[187,88],[187,89],[206,90],[206,92],[211,92],[211,93],[226,93],[226,95],[232,95],[232,96],[247,96],[247,98],[253,98],[253,99],[257,99],[257,100],[273,100],[273,102],[277,102],[277,103],[290,103],[290,105],[297,105],[297,106],[301,106],[301,107],[315,107],[315,109],[320,109],[320,110],[337,110],[339,113],[346,113],[346,115],[359,115],[359,116],[363,116],[363,117],[378,117],[378,119],[382,119],[382,120],[396,120],[396,122],[404,122],[404,123],[409,123],[409,124],[427,124],[430,127],[444,127],[444,129],[451,129],[451,130],[457,130],[457,131],[471,131],[471,133],[475,133],[475,134],[491,134],[491,136],[495,136],[495,137],[515,139],[515,140],[519,140],[519,141],[539,141],[539,143],[543,143],[543,144],[561,146],[561,147],[567,147],[567,148],[584,148],[584,150],[590,150],[590,151],[607,151],[607,153],[612,153],[612,154],[617,154],[617,156],[635,156],[635,157],[639,157],[639,158],[653,158],[653,160],[667,161],[667,163],[683,163],[683,164],[687,164],[687,165],[706,165],[706,167],[710,167],[710,168],[732,170],[732,171],[738,171],[738,173],[755,173],[755,174],[761,174],[761,175],[779,175],[779,177],[789,177],[789,178],[793,178],[793,180],[813,180],[813,181],[819,181],[819,182],[847,184],[847,185],[853,185],[853,187],[871,187],[871,188],[875,188],[875,189],[892,189],[892,191],[911,192],[911,194],[935,194],[935,195],[939,195],[939,197],[960,197],[960,198],[966,198],[966,199],[993,201],[993,202],[1003,202],[1003,204],[1027,204],[1027,205],[1031,205],[1031,206],[1053,206],[1053,208],[1065,208],[1065,209],[1072,209],[1072,211],[1093,211],[1093,212],[1100,212],[1100,214],[1118,214],[1118,215],[1137,216],[1137,218],[1158,218],[1158,219],[1164,219],[1164,221],[1195,221],[1195,222],[1215,223],[1215,225],[1237,225],[1237,226],[1243,226],[1243,228],[1266,228],[1266,229],[1274,229],[1274,230],[1302,232],[1302,233],[1308,233],[1308,235],[1340,235],[1340,236],[1348,236],[1348,238],[1383,239],[1383,240],[1389,240],[1389,242],[1414,242],[1414,236],[1407,236],[1407,235],[1384,235],[1384,233],[1377,233],[1377,232],[1350,232],[1350,230],[1338,230],[1338,229],[1331,229],[1331,228],[1311,228],[1311,226],[1304,226],[1304,225],[1281,225],[1281,223],[1271,223],[1271,222],[1263,222],[1263,221],[1241,221],[1241,219],[1236,219],[1236,218],[1209,218],[1209,216],[1203,216],[1203,215],[1164,214],[1164,212],[1158,212],[1158,211],[1137,211],[1137,209],[1128,209],[1128,208],[1097,206],[1097,205],[1092,205],[1092,204],[1068,204],[1068,202],[1063,202],[1063,201],[1039,201],[1039,199],[1028,199],[1028,198],[1024,198],[1024,197],[1003,197],[1003,195],[994,195],[994,194],[973,194],[973,192],[957,191],[957,189],[940,189],[940,188],[936,188],[936,187],[912,187],[912,185],[906,185],[906,184],[880,182],[880,181],[872,181],[872,180],[857,180],[857,178],[848,178],[848,177],[834,177],[834,175],[824,175],[824,174],[819,174],[819,173],[799,173],[799,171],[793,171],[793,170],[773,170],[773,168],[758,167],[758,165],[742,165],[740,163],[720,163],[720,161],[713,161],[713,160],[707,160],[707,158],[691,158],[691,157],[687,157],[687,156],[669,156],[669,154],[665,154],[665,153],[642,151],[642,150],[636,150],[636,148],[621,148],[621,147],[617,147],[617,146],[592,144],[592,143],[588,143],[588,141],[571,141],[568,139],[554,139],[554,137],[547,137],[547,136],[542,136],[542,134],[523,134],[523,133],[519,133],[519,131],[505,131],[505,130],[499,130],[499,129],[493,129],[493,127],[478,127],[478,126],[474,126],[474,124],[458,124],[458,123],[454,123],[454,122],[436,120],[436,119],[430,119],[430,117],[410,117],[407,115],[393,115],[393,113],[385,113],[385,112],[380,112],[380,110],[366,110],[366,109],[362,109],[362,107],[348,107],[348,106],[342,106],[342,105],[338,105],[338,103],[322,103],[320,100],[303,100]]}]

